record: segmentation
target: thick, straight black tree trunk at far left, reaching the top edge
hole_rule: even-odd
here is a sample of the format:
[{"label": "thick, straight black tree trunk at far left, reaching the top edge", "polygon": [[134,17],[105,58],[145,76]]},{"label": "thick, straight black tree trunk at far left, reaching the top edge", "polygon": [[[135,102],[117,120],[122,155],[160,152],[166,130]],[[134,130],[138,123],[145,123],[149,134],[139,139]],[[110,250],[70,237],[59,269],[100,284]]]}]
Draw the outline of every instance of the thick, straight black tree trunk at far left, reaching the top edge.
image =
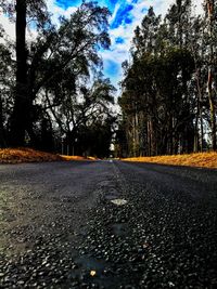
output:
[{"label": "thick, straight black tree trunk at far left, reaching the top edge", "polygon": [[29,100],[27,95],[26,0],[16,0],[16,88],[11,120],[11,144],[25,144]]}]

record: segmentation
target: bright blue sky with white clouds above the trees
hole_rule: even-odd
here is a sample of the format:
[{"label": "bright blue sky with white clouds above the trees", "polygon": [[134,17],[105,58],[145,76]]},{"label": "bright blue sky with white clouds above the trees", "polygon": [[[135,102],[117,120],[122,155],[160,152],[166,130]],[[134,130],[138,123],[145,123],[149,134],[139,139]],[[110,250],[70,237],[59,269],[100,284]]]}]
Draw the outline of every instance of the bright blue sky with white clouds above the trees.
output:
[{"label": "bright blue sky with white clouds above the trees", "polygon": [[[200,13],[201,1],[196,3],[195,12]],[[112,83],[118,88],[122,80],[122,63],[129,58],[129,49],[133,37],[133,30],[140,25],[146,14],[148,9],[152,5],[156,14],[165,15],[168,8],[175,0],[99,0],[101,6],[107,6],[112,13],[110,17],[110,37],[111,48],[107,51],[101,51],[103,58],[104,76],[108,77]],[[58,23],[61,15],[69,16],[81,0],[47,0],[48,9],[53,14],[53,21]],[[0,14],[0,23],[3,24],[5,31],[14,38],[14,25],[10,24],[8,18]]]}]

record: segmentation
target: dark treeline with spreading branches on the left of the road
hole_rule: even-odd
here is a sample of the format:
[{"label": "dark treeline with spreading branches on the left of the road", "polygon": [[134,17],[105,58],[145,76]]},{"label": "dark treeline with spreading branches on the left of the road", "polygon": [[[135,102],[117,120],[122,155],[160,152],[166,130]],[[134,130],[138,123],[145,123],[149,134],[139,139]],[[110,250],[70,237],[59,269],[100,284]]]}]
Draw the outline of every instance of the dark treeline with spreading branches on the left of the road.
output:
[{"label": "dark treeline with spreading branches on the left of the road", "polygon": [[0,147],[108,156],[114,87],[99,56],[110,47],[108,10],[82,2],[53,25],[44,0],[0,6],[15,23],[14,42],[0,27]]}]

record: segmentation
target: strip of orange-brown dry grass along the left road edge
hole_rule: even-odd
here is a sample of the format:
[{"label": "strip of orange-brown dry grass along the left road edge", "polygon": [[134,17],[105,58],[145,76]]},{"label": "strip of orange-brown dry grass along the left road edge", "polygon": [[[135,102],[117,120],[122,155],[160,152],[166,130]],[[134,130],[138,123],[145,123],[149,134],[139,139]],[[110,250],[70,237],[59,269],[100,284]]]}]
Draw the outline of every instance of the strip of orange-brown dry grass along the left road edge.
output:
[{"label": "strip of orange-brown dry grass along the left road edge", "polygon": [[60,156],[55,154],[39,152],[31,148],[4,148],[0,149],[0,163],[40,162],[56,160],[85,160],[94,159],[79,156]]}]

